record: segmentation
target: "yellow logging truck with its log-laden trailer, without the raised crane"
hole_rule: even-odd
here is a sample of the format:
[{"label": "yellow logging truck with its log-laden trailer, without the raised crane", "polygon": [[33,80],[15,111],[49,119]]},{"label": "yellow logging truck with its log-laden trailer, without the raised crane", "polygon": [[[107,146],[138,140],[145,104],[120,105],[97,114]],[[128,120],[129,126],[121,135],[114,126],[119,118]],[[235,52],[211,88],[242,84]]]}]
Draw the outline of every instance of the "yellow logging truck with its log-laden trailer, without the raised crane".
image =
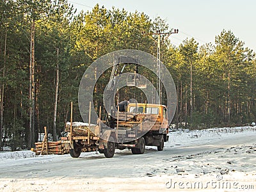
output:
[{"label": "yellow logging truck with its log-laden trailer, without the raised crane", "polygon": [[[70,156],[79,157],[82,151],[98,150],[105,157],[113,157],[115,149],[131,149],[143,154],[145,146],[164,148],[168,141],[168,116],[161,104],[129,103],[125,111],[113,111],[97,125],[67,124],[68,136],[61,138],[70,147]],[[71,126],[72,125],[72,126]]]}]

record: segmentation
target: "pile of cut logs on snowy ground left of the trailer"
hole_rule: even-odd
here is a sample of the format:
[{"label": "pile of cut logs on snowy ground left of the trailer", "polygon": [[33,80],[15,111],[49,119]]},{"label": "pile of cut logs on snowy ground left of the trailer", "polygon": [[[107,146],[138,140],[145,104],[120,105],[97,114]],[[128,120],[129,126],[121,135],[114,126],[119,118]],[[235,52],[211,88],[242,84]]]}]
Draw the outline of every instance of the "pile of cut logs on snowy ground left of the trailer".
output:
[{"label": "pile of cut logs on snowy ground left of the trailer", "polygon": [[[48,151],[46,146],[48,145]],[[46,155],[46,154],[68,154],[69,148],[65,148],[65,145],[61,141],[48,141],[47,145],[44,145],[43,142],[35,143],[36,148],[33,150],[36,152],[36,155]],[[43,148],[44,147],[44,148]],[[41,153],[42,152],[42,153]]]}]

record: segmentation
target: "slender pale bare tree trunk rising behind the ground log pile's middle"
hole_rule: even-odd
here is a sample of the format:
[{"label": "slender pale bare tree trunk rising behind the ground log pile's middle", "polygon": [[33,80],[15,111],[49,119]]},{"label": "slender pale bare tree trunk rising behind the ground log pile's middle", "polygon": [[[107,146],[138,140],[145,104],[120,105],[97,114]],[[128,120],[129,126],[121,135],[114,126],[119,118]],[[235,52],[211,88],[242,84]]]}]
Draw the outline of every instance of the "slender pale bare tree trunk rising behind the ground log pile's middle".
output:
[{"label": "slender pale bare tree trunk rising behind the ground log pile's middle", "polygon": [[58,89],[59,89],[59,48],[57,48],[57,62],[56,62],[56,85],[55,85],[55,102],[54,102],[54,115],[53,115],[53,140],[57,141],[57,129],[56,129],[56,116],[58,106]]}]

